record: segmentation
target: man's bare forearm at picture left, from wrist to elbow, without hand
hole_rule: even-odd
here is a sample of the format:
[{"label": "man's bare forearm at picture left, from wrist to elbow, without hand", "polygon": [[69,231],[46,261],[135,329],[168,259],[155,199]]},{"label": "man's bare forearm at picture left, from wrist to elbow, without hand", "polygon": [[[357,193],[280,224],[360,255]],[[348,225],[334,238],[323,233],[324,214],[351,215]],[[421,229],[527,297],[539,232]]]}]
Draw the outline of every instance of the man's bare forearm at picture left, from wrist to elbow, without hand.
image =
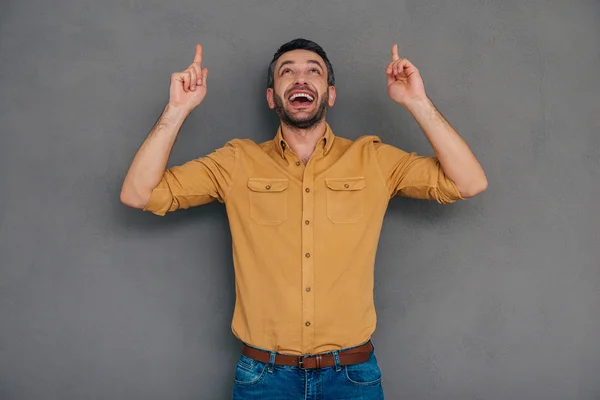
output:
[{"label": "man's bare forearm at picture left, from wrist to elbow, without hand", "polygon": [[171,149],[189,111],[167,105],[137,151],[121,188],[121,201],[144,208],[162,179]]}]

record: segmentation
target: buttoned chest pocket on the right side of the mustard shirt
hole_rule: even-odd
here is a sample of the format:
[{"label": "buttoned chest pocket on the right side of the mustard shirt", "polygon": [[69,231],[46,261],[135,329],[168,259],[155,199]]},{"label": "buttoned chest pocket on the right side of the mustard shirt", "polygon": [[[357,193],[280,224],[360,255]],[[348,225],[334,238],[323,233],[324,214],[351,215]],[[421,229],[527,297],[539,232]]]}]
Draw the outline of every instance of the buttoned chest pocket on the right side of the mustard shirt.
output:
[{"label": "buttoned chest pocket on the right side of the mustard shirt", "polygon": [[336,224],[358,222],[364,213],[365,178],[325,178],[325,184],[327,218]]}]

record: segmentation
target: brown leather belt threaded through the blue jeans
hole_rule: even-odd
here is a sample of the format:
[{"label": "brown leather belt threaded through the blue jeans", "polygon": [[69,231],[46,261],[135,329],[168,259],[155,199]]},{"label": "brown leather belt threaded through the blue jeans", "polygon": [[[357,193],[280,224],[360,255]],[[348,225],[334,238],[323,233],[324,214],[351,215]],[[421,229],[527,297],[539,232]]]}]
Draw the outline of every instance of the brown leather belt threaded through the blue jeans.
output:
[{"label": "brown leather belt threaded through the blue jeans", "polygon": [[[338,352],[340,365],[353,365],[365,362],[371,356],[373,345],[371,341],[362,346],[347,349]],[[253,360],[268,364],[271,361],[271,353],[268,351],[257,350],[244,344],[242,354]],[[305,354],[302,356],[292,356],[288,354],[277,354],[275,364],[289,365],[301,369],[325,368],[335,366],[335,358],[332,353],[327,354]]]}]

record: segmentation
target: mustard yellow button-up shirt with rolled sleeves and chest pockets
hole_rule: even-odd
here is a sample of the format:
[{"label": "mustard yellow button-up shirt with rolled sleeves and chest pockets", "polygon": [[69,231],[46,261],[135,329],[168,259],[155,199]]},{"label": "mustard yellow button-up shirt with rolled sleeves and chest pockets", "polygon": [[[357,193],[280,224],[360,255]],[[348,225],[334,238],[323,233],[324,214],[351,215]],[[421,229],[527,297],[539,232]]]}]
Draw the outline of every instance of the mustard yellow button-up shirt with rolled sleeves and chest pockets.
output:
[{"label": "mustard yellow button-up shirt with rolled sleeves and chest pockets", "polygon": [[463,199],[435,157],[331,127],[304,165],[282,136],[222,148],[167,169],[145,211],[211,201],[229,219],[236,303],[232,331],[255,347],[319,353],[367,341],[376,326],[374,262],[396,195]]}]

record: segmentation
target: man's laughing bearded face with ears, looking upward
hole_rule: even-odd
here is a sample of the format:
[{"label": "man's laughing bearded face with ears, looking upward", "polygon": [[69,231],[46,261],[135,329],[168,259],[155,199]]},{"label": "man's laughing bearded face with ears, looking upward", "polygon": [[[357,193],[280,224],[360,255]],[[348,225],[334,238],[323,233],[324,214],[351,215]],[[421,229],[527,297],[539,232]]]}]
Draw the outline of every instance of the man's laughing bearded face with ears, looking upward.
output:
[{"label": "man's laughing bearded face with ears, looking upward", "polygon": [[335,102],[335,88],[327,84],[325,61],[312,51],[293,50],[277,60],[273,89],[267,89],[267,102],[281,121],[298,129],[308,129],[325,117]]}]

